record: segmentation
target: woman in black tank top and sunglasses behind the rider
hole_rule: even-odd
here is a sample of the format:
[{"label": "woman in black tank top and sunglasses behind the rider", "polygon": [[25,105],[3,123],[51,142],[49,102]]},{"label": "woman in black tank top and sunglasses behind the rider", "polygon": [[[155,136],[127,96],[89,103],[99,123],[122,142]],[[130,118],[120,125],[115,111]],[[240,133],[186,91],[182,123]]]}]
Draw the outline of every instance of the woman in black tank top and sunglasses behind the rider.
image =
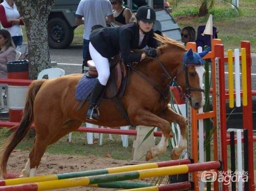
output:
[{"label": "woman in black tank top and sunglasses behind the rider", "polygon": [[130,23],[132,18],[132,11],[123,6],[123,0],[112,0],[111,4],[114,10],[115,24],[125,25]]}]

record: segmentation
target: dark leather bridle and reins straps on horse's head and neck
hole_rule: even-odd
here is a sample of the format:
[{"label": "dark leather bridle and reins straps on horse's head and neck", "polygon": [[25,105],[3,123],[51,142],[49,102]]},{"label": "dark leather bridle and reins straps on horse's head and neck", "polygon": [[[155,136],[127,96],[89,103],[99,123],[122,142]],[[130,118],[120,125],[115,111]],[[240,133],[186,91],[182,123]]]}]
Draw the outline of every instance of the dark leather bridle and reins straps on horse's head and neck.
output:
[{"label": "dark leather bridle and reins straps on horse's head and neck", "polygon": [[[153,59],[153,58],[152,58]],[[127,66],[128,67],[131,67],[131,69],[133,71],[135,71],[142,79],[144,79],[147,83],[149,83],[150,85],[152,85],[153,87],[155,87],[159,92],[160,94],[163,96],[164,99],[167,99],[168,97],[168,93],[169,93],[169,86],[170,86],[170,83],[173,81],[173,82],[176,82],[177,84],[177,88],[179,89],[180,92],[182,92],[182,94],[185,96],[184,99],[187,101],[189,100],[191,102],[191,91],[200,91],[200,92],[204,92],[204,89],[202,88],[197,88],[197,87],[191,87],[189,85],[189,82],[188,82],[188,71],[187,71],[187,68],[188,66],[191,66],[193,64],[190,64],[190,63],[183,63],[183,69],[174,77],[172,78],[172,76],[168,73],[168,71],[166,70],[166,68],[163,66],[163,64],[160,62],[158,56],[156,57],[156,60],[158,61],[158,64],[159,66],[162,68],[163,72],[164,73],[161,73],[161,75],[164,75],[168,80],[168,84],[165,86],[165,90],[164,92],[162,92],[159,88],[159,85],[156,85],[154,84],[153,82],[151,82],[143,73],[141,73],[140,71],[136,70],[131,64],[128,64]],[[198,65],[194,65],[194,66],[198,66]],[[182,71],[185,70],[185,83],[186,83],[186,87],[185,87],[185,92],[179,87],[178,85],[178,82],[177,82],[177,78],[178,76],[181,74]]]}]

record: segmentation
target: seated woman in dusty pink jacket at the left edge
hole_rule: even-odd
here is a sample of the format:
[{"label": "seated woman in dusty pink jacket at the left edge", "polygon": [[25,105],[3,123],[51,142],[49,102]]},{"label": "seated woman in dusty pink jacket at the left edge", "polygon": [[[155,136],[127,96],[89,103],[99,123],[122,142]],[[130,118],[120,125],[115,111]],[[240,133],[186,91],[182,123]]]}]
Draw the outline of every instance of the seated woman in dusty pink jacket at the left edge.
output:
[{"label": "seated woman in dusty pink jacket at the left edge", "polygon": [[16,57],[15,45],[6,29],[0,30],[0,78],[7,78],[7,62]]}]

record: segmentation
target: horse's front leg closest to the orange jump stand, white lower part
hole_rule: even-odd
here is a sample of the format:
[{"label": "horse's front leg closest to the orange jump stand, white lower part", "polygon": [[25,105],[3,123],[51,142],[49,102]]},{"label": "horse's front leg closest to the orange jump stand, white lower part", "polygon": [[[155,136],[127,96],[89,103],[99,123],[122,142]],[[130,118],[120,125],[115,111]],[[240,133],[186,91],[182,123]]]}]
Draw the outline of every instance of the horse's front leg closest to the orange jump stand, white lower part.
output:
[{"label": "horse's front leg closest to the orange jump stand, white lower part", "polygon": [[177,160],[181,156],[183,150],[187,147],[187,139],[186,139],[186,120],[185,118],[176,113],[172,108],[171,105],[168,104],[163,113],[160,115],[161,118],[165,119],[169,123],[177,123],[180,126],[181,130],[181,139],[178,146],[172,151],[172,159]]}]

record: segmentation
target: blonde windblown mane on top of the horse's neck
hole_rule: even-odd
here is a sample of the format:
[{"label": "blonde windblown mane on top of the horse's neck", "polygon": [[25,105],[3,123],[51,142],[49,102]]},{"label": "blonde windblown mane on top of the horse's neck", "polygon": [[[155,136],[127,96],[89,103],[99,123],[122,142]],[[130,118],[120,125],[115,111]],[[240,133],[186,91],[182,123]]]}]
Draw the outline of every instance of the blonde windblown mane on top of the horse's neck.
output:
[{"label": "blonde windblown mane on top of the horse's neck", "polygon": [[161,43],[160,45],[160,49],[165,49],[168,47],[173,47],[173,48],[179,48],[181,50],[186,50],[186,48],[178,41],[170,39],[168,36],[166,35],[159,35],[155,33],[155,39],[158,40],[158,42]]}]

